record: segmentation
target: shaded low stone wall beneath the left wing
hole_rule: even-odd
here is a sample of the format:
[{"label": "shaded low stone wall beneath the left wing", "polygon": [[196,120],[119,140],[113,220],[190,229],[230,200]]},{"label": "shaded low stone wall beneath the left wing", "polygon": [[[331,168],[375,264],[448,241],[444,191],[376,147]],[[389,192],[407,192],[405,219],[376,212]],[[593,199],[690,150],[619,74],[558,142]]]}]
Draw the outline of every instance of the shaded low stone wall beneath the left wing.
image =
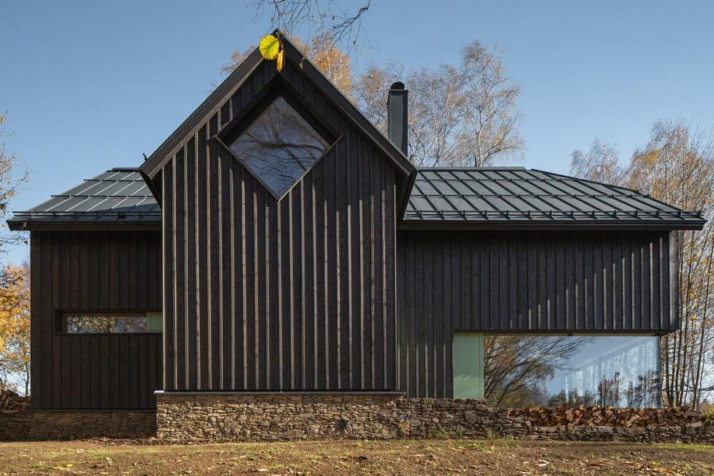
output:
[{"label": "shaded low stone wall beneath the left wing", "polygon": [[156,436],[154,410],[22,410],[0,412],[0,441]]}]

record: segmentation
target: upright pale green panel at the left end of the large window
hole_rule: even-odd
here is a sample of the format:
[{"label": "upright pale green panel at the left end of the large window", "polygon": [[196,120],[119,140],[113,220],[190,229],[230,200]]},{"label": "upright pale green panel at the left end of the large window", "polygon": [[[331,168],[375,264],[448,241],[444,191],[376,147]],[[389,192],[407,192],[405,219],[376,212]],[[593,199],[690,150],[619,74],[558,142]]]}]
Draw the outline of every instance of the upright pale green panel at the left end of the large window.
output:
[{"label": "upright pale green panel at the left end of the large window", "polygon": [[453,335],[453,397],[483,398],[483,334]]}]

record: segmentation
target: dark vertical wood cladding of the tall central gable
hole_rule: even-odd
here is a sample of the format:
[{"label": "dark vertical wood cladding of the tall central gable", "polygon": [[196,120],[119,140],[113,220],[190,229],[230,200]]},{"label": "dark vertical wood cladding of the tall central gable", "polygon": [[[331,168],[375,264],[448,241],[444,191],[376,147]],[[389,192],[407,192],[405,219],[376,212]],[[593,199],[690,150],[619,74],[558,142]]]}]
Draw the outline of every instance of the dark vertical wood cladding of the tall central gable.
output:
[{"label": "dark vertical wood cladding of the tall central gable", "polygon": [[258,66],[161,172],[164,388],[395,388],[393,166],[289,62],[283,93],[340,136],[326,156],[278,201],[213,138],[275,74]]}]

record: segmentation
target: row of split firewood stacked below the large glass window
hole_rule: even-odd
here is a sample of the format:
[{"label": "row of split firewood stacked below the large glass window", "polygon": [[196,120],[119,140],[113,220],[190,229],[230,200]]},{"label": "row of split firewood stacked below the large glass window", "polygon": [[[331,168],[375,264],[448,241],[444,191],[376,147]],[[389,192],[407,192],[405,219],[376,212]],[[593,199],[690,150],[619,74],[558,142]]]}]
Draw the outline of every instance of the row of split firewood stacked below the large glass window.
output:
[{"label": "row of split firewood stacked below the large glass window", "polygon": [[617,407],[531,407],[509,410],[511,417],[523,417],[539,427],[612,426],[658,427],[683,426],[701,415],[686,407],[617,408]]}]

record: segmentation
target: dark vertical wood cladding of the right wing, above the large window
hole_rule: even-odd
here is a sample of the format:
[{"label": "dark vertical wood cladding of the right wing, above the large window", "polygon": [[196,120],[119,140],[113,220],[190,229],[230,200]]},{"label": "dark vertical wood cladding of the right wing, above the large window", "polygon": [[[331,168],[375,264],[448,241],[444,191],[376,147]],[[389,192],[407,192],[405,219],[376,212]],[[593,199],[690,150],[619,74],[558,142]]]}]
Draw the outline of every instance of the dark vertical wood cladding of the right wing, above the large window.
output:
[{"label": "dark vertical wood cladding of the right wing, above the large window", "polygon": [[670,244],[667,232],[400,232],[399,389],[451,397],[459,330],[677,329]]}]

